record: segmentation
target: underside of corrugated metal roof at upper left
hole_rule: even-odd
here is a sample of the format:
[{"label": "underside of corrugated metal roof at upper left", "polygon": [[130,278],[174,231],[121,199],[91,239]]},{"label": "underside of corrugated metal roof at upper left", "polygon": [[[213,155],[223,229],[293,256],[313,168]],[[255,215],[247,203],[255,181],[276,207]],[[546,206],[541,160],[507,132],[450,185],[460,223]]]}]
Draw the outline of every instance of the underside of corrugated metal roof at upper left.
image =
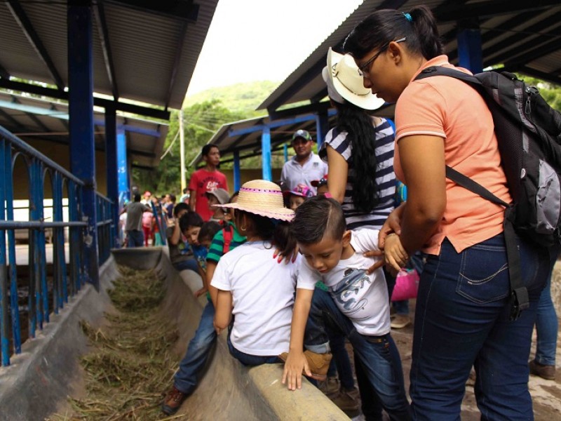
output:
[{"label": "underside of corrugated metal roof at upper left", "polygon": [[[154,1],[151,8],[161,7],[163,13],[143,9],[142,2],[138,2],[139,6],[129,6],[127,1],[100,0],[120,98],[180,109],[217,2],[197,0],[196,22],[190,22],[167,13],[170,4],[187,5],[193,3],[190,0]],[[0,66],[10,76],[55,85],[52,72],[25,36],[8,3],[0,2]],[[31,22],[67,86],[67,5],[62,1],[15,3]],[[92,7],[96,7],[95,2]],[[187,25],[185,30],[183,25]],[[112,95],[100,34],[101,28],[93,19],[94,91]]]}]

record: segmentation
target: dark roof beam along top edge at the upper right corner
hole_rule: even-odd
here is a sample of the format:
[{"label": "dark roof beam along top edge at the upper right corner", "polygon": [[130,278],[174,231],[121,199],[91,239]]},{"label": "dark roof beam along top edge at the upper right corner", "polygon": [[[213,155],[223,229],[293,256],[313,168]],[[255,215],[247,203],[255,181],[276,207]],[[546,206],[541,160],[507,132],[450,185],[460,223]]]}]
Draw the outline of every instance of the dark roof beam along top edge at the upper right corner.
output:
[{"label": "dark roof beam along top edge at the upper right corner", "polygon": [[461,4],[450,1],[446,5],[435,8],[434,14],[438,22],[455,22],[459,17],[487,18],[518,12],[543,10],[551,6],[559,6],[559,0],[487,0],[473,4]]}]

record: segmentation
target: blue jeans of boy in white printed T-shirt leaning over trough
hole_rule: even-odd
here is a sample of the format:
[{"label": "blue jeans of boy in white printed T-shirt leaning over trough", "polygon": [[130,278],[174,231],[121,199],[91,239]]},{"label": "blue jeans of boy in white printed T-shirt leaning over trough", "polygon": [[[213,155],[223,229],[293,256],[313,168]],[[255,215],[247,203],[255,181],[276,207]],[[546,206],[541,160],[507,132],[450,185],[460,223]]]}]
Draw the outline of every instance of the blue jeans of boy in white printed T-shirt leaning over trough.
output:
[{"label": "blue jeans of boy in white printed T-shirt leaning over trough", "polygon": [[316,288],[304,335],[307,349],[319,353],[328,351],[326,326],[349,338],[372,390],[391,419],[410,420],[401,359],[391,335],[360,335],[351,320],[337,308],[330,294]]}]

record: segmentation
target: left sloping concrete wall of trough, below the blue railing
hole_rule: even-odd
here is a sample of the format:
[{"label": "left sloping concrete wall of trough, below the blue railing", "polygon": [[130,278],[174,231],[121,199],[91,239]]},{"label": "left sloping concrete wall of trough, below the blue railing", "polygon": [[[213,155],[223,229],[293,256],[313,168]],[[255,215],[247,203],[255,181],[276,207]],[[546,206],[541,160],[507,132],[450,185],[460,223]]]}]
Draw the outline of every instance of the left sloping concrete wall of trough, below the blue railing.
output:
[{"label": "left sloping concrete wall of trough, below the blue railing", "polygon": [[113,258],[100,268],[100,293],[90,284],[69,299],[59,314],[50,316],[36,338],[22,345],[11,365],[0,368],[0,420],[43,420],[81,380],[79,356],[87,341],[79,326],[86,320],[94,326],[111,305],[107,288],[119,276]]}]

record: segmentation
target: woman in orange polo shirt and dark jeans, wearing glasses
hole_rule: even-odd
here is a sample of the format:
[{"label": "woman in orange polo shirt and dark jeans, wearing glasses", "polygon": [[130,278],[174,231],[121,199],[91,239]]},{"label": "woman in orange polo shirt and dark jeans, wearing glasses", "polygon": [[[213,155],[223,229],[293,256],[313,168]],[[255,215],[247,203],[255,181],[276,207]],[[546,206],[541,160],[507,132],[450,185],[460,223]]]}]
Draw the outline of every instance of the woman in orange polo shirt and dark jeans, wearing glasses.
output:
[{"label": "woman in orange polo shirt and dark jeans, wearing glasses", "polygon": [[381,246],[400,241],[409,255],[428,253],[415,314],[414,419],[458,420],[472,366],[482,419],[533,419],[528,356],[550,255],[520,241],[530,308],[508,321],[504,209],[445,175],[451,166],[511,201],[485,101],[450,77],[414,81],[426,67],[454,67],[424,6],[409,13],[376,11],[353,29],[344,49],[355,58],[365,86],[396,102],[394,168],[407,185],[408,200],[388,218]]}]

